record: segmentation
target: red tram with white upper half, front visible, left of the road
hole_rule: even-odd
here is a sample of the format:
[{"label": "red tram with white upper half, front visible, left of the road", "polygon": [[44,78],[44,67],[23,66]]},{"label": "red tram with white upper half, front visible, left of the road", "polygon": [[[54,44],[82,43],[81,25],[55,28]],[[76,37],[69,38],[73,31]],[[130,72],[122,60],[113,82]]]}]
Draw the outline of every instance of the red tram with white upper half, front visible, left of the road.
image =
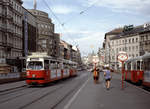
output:
[{"label": "red tram with white upper half, front visible, left of the road", "polygon": [[27,57],[26,83],[45,84],[76,76],[77,64],[68,60],[53,59],[46,53],[32,53]]}]

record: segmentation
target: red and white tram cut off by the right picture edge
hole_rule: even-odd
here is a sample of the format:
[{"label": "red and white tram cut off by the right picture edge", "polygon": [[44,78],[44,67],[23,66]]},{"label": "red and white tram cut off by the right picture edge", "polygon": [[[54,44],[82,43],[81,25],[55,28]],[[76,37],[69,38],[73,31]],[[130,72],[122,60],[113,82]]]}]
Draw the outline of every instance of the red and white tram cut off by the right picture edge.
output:
[{"label": "red and white tram cut off by the right picture edge", "polygon": [[125,62],[125,80],[150,87],[150,53]]}]

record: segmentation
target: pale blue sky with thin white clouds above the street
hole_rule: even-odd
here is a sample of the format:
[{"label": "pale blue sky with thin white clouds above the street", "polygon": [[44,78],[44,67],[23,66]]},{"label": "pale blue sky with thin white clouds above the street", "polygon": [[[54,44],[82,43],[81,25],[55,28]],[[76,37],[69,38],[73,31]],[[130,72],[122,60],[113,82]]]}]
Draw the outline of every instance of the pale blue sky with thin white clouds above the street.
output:
[{"label": "pale blue sky with thin white clouds above the street", "polygon": [[[34,0],[22,1],[26,9],[33,9]],[[150,22],[150,0],[37,0],[37,10],[49,14],[55,33],[78,46],[82,56],[96,53],[105,33]]]}]

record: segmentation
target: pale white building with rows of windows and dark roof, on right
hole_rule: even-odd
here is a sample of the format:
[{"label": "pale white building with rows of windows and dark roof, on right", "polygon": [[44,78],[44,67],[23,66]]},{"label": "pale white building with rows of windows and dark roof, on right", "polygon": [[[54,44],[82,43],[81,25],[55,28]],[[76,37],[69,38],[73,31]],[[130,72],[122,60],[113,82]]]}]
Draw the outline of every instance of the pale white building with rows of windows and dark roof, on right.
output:
[{"label": "pale white building with rows of windows and dark roof, on right", "polygon": [[128,58],[140,56],[140,35],[143,26],[138,26],[132,30],[122,32],[110,39],[110,65],[117,69],[121,67],[117,59],[118,53],[124,51]]}]

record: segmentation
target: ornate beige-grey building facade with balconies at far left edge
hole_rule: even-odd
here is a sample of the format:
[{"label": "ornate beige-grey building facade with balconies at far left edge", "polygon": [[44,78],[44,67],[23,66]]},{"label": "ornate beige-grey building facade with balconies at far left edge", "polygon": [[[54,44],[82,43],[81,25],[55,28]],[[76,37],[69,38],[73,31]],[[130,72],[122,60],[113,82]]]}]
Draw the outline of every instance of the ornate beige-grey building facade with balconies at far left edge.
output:
[{"label": "ornate beige-grey building facade with balconies at far left edge", "polygon": [[0,1],[0,58],[22,56],[22,0]]}]

